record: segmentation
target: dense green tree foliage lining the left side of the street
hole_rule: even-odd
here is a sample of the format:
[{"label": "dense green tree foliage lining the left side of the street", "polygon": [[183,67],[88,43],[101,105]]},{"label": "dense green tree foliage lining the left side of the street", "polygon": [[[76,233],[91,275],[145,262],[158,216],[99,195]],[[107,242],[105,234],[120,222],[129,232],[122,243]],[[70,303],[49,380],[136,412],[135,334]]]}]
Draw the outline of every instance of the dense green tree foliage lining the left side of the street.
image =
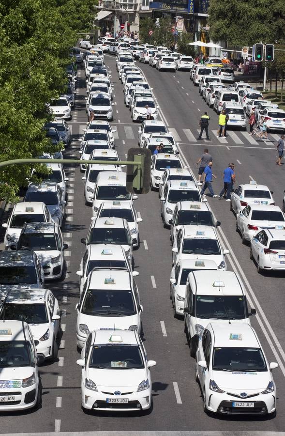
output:
[{"label": "dense green tree foliage lining the left side of the street", "polygon": [[[93,19],[92,0],[0,0],[2,161],[55,151],[42,130],[46,102],[65,90],[69,47]],[[0,198],[14,200],[29,175],[30,166],[0,171]]]}]

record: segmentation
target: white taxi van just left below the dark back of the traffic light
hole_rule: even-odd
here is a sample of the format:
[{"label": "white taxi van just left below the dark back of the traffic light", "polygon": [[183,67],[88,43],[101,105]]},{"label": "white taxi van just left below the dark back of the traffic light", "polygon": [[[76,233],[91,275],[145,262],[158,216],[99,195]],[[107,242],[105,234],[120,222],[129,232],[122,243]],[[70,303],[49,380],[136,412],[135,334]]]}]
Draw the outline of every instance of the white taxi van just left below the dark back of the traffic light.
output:
[{"label": "white taxi van just left below the dark back of the traffic light", "polygon": [[127,174],[125,172],[99,172],[94,187],[93,217],[97,216],[99,206],[105,201],[132,202],[137,195],[127,192]]}]

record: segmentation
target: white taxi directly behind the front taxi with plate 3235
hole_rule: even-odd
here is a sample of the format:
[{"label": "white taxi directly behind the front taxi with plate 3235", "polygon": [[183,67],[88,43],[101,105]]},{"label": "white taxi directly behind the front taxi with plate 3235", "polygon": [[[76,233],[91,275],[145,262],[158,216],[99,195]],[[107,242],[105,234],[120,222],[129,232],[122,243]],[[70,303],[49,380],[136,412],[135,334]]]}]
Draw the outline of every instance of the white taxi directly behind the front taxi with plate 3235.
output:
[{"label": "white taxi directly behind the front taxi with plate 3235", "polygon": [[76,343],[83,348],[92,330],[116,328],[140,333],[142,306],[132,273],[126,268],[93,268],[76,304]]}]

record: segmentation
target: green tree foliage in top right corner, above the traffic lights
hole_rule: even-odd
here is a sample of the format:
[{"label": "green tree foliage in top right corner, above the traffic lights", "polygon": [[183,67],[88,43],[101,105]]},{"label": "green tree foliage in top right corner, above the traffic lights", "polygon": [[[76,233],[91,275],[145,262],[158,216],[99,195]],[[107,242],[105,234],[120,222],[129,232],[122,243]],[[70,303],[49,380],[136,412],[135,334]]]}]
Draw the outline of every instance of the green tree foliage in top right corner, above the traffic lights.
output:
[{"label": "green tree foliage in top right corner, above the traffic lights", "polygon": [[234,47],[272,44],[285,38],[284,19],[284,0],[211,0],[210,38]]}]

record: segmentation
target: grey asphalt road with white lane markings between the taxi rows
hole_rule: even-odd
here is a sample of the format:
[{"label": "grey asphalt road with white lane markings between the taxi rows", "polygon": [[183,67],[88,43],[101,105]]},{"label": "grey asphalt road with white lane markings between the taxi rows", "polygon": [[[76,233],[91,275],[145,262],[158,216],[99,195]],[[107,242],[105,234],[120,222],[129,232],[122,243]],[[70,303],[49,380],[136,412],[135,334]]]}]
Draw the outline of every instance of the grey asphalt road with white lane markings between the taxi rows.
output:
[{"label": "grey asphalt road with white lane markings between the taxi rows", "polygon": [[[137,144],[139,124],[132,123],[130,111],[124,106],[122,85],[116,71],[115,59],[105,56],[114,83],[114,122],[117,128],[116,149],[121,159],[128,148]],[[208,110],[210,130],[216,130],[217,116],[206,106],[198,94],[198,88],[189,80],[189,73],[158,72],[149,65],[142,68],[160,106],[160,115],[180,142],[180,157],[196,171],[196,160],[203,148],[208,146],[213,156],[213,172],[218,177],[213,186],[219,193],[223,186],[222,174],[229,162],[236,163],[237,183],[246,183],[249,176],[264,183],[274,191],[275,202],[282,204],[284,167],[275,165],[275,144],[260,141],[250,143],[247,135],[235,131],[220,142],[212,133],[210,142],[198,142],[198,121],[204,110]],[[77,76],[76,108],[72,126],[73,142],[65,157],[78,157],[79,143],[86,125],[85,75],[80,70]],[[198,110],[200,109],[200,110]],[[184,130],[183,130],[184,129]],[[190,133],[192,135],[190,135]],[[230,131],[228,131],[230,134]],[[270,136],[270,140],[276,138]],[[253,140],[252,140],[253,142]],[[272,145],[273,144],[273,145]],[[67,277],[63,282],[47,283],[66,310],[62,318],[63,335],[59,358],[56,362],[41,367],[43,382],[43,405],[36,412],[10,413],[1,415],[0,433],[36,432],[201,432],[216,431],[241,434],[241,432],[282,432],[285,429],[285,312],[284,276],[281,274],[258,275],[256,266],[249,259],[249,248],[241,244],[235,232],[235,217],[229,211],[229,204],[223,200],[209,199],[209,204],[222,222],[219,233],[222,243],[230,249],[227,265],[237,270],[244,281],[248,300],[257,310],[252,317],[263,348],[269,361],[278,361],[280,368],[274,371],[277,386],[277,416],[274,419],[244,417],[212,417],[203,412],[199,386],[195,382],[195,360],[190,357],[189,347],[183,332],[183,321],[173,317],[169,300],[169,277],[171,270],[171,245],[169,230],[163,228],[160,218],[160,202],[157,192],[140,195],[135,207],[140,212],[140,248],[134,251],[136,278],[141,303],[145,346],[148,358],[157,361],[151,371],[153,408],[145,414],[135,415],[110,413],[84,413],[80,404],[80,369],[76,365],[79,354],[76,351],[75,304],[79,288],[75,274],[78,270],[84,246],[80,243],[86,237],[91,217],[91,208],[85,206],[83,181],[79,168],[66,168],[68,182],[67,218],[63,226],[64,240],[70,246]],[[6,212],[8,214],[9,211]],[[5,217],[3,217],[4,219]],[[1,234],[3,237],[3,233]],[[1,239],[2,240],[2,239]],[[165,327],[165,329],[163,328]],[[157,433],[159,434],[159,433]]]}]

